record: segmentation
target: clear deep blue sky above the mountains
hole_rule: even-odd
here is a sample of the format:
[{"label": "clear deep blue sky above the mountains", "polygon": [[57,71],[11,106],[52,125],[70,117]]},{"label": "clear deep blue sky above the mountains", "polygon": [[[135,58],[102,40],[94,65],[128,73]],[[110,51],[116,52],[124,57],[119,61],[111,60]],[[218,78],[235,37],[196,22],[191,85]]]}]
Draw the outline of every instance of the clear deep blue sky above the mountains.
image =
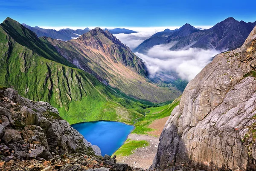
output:
[{"label": "clear deep blue sky above the mountains", "polygon": [[0,21],[30,26],[213,26],[227,17],[254,22],[255,0],[0,0]]}]

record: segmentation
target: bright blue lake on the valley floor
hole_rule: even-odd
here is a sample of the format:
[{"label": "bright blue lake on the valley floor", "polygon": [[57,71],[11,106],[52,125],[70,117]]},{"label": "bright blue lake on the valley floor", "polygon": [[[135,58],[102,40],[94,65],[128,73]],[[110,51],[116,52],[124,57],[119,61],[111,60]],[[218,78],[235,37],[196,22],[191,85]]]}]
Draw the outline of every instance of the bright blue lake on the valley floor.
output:
[{"label": "bright blue lake on the valley floor", "polygon": [[72,125],[92,145],[98,145],[102,156],[112,155],[120,148],[134,129],[132,125],[114,121],[95,121]]}]

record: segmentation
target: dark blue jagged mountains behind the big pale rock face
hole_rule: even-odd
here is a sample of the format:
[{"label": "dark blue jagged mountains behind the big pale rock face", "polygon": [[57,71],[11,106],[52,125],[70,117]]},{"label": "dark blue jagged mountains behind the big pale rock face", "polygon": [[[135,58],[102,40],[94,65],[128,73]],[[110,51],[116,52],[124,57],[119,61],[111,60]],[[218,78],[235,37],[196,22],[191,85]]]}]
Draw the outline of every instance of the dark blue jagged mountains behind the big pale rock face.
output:
[{"label": "dark blue jagged mountains behind the big pale rock face", "polygon": [[145,53],[155,45],[175,43],[170,50],[184,48],[215,48],[219,51],[233,50],[239,48],[253,27],[254,23],[237,21],[232,17],[227,18],[209,29],[197,29],[190,24],[185,24],[179,29],[158,32],[141,43],[134,51]]}]

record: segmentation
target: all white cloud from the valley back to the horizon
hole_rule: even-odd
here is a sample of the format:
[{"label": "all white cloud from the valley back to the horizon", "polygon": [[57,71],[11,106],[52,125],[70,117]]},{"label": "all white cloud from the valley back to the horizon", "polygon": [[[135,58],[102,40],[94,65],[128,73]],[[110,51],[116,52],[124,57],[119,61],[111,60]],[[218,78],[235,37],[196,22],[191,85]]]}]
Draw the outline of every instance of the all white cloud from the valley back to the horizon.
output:
[{"label": "all white cloud from the valley back to the horizon", "polygon": [[[210,26],[201,26],[201,28],[209,27]],[[176,27],[169,29],[172,30],[175,28]],[[134,51],[144,40],[163,30],[164,28],[134,29],[134,31],[139,32],[132,34],[115,34],[115,36]],[[204,50],[201,48],[186,48],[176,51],[169,50],[175,43],[177,42],[154,46],[144,54],[134,52],[145,61],[151,77],[164,75],[164,77],[168,78],[171,77],[169,73],[177,73],[178,77],[187,81],[192,80],[212,60],[212,57],[221,52],[215,49]]]}]

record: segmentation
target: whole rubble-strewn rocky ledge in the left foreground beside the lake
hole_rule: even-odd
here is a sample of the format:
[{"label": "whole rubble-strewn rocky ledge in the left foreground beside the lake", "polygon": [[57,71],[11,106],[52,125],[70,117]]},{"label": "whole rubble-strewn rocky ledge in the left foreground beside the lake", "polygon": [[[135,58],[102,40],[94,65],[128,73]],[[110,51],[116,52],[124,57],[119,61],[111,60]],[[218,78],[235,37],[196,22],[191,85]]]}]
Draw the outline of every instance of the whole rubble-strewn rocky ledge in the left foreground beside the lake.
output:
[{"label": "whole rubble-strewn rocky ledge in the left foreground beside the lake", "polygon": [[103,158],[99,147],[87,142],[49,103],[0,87],[1,171],[133,170],[115,162],[115,157]]}]

